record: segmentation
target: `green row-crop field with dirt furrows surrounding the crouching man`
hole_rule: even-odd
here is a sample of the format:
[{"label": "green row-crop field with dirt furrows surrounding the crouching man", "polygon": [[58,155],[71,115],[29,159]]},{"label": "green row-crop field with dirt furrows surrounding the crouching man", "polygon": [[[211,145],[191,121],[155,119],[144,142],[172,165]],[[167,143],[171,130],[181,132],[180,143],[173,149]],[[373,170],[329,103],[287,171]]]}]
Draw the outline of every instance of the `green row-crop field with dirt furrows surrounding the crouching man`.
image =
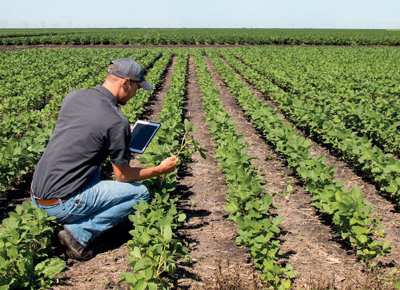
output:
[{"label": "green row-crop field with dirt furrows surrounding the crouching man", "polygon": [[[177,172],[146,182],[154,198],[136,208],[134,227],[104,234],[95,258],[77,262],[52,248],[66,267],[51,289],[129,289],[121,279],[133,289],[212,289],[236,274],[237,284],[271,289],[397,289],[398,47],[63,48],[0,56],[1,218],[28,198],[63,97],[102,83],[112,59],[134,58],[154,84],[122,108],[129,121],[163,123],[132,162],[181,154]],[[1,241],[3,269],[10,256]],[[154,250],[161,244],[163,251]],[[153,263],[155,252],[166,264]]]}]

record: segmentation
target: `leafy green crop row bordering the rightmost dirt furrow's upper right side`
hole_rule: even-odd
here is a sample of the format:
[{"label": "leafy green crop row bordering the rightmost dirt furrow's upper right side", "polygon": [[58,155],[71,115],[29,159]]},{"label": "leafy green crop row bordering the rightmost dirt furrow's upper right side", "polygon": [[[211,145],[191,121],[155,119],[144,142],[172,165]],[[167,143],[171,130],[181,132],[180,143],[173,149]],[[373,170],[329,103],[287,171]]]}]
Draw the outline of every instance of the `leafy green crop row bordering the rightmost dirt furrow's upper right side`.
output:
[{"label": "leafy green crop row bordering the rightmost dirt furrow's upper right side", "polygon": [[296,95],[280,90],[264,75],[235,58],[226,57],[235,69],[241,73],[246,72],[246,79],[271,97],[291,120],[296,121],[298,127],[329,145],[344,156],[346,161],[355,164],[380,186],[381,191],[400,202],[400,162],[392,154],[385,154],[381,148],[372,146],[367,136],[359,137],[357,132],[346,128],[343,122],[331,118],[323,106],[303,102]]}]

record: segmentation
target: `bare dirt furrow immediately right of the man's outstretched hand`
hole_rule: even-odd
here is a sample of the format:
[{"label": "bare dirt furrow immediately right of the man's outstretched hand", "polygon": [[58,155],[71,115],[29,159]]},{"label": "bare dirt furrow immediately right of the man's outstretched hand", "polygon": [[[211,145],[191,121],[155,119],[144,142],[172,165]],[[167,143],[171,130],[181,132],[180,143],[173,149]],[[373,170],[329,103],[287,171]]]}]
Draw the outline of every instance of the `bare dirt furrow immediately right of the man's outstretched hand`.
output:
[{"label": "bare dirt furrow immediately right of the man's outstretched hand", "polygon": [[199,280],[209,280],[216,271],[216,260],[246,264],[248,255],[234,241],[236,225],[224,218],[227,215],[223,210],[225,177],[217,170],[218,164],[213,158],[214,143],[205,124],[205,110],[202,108],[202,94],[193,58],[189,60],[188,79],[185,118],[197,127],[191,134],[193,138],[208,151],[205,152],[206,159],[198,153],[194,154],[186,174],[179,179],[182,188],[180,205],[187,215],[179,234],[189,241],[190,255],[194,260],[193,272]]}]

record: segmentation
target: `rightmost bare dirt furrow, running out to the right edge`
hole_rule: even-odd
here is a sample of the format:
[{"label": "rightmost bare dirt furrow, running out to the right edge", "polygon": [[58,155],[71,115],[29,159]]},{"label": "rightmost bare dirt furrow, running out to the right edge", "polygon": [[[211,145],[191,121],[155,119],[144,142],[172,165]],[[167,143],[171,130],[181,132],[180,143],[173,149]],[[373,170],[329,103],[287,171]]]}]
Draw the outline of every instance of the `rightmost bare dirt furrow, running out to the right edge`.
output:
[{"label": "rightmost bare dirt furrow, running out to the right edge", "polygon": [[[227,62],[225,61],[225,63]],[[241,80],[246,83],[248,88],[250,88],[250,90],[252,90],[252,92],[254,92],[259,99],[262,99],[273,108],[278,108],[278,106],[271,99],[269,99],[268,96],[264,96],[262,92],[254,88],[250,83],[248,83],[248,81],[243,79],[240,74],[237,73],[237,76],[239,76]],[[280,115],[283,114],[280,113]],[[294,125],[291,120],[285,119],[285,122]],[[303,134],[303,131],[298,129],[296,129],[296,131],[300,134]],[[307,138],[307,136],[304,134],[303,136]],[[386,232],[384,239],[392,244],[392,252],[387,255],[387,257],[383,258],[382,262],[386,264],[397,264],[397,261],[400,261],[399,206],[396,206],[385,199],[381,191],[378,191],[374,184],[371,184],[371,182],[369,182],[365,177],[360,175],[360,172],[357,172],[357,170],[352,168],[348,163],[346,163],[346,161],[330,154],[329,150],[326,147],[323,147],[323,145],[315,143],[313,140],[312,142],[313,145],[310,148],[311,155],[313,157],[325,155],[325,163],[329,166],[335,166],[337,169],[334,177],[335,182],[342,181],[344,182],[344,187],[349,189],[353,188],[354,186],[358,186],[362,195],[365,195],[365,202],[374,207],[376,217],[382,220],[383,229]]]}]

